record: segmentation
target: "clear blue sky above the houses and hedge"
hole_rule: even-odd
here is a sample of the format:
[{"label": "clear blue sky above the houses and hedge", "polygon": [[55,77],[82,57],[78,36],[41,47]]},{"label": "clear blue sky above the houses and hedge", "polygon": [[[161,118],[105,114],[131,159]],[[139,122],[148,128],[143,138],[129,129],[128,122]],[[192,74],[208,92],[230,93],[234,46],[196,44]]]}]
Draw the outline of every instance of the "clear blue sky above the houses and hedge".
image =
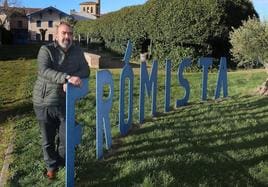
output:
[{"label": "clear blue sky above the houses and hedge", "polygon": [[[66,13],[71,9],[79,11],[79,4],[94,0],[18,0],[21,6],[33,8],[46,8],[54,6]],[[101,13],[119,10],[125,6],[144,4],[147,0],[101,0]],[[261,20],[268,21],[268,0],[252,0]]]}]

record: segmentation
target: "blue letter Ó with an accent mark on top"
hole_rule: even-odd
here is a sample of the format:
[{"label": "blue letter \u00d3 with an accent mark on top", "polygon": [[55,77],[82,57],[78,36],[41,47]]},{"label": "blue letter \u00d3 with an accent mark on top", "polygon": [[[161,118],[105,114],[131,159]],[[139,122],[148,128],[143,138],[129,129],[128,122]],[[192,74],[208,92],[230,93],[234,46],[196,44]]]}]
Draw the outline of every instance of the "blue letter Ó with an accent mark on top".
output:
[{"label": "blue letter \u00d3 with an accent mark on top", "polygon": [[[132,113],[133,113],[133,80],[134,74],[131,66],[129,65],[129,60],[131,57],[132,45],[128,42],[124,61],[125,66],[120,75],[120,108],[119,108],[119,130],[122,135],[126,135],[132,124]],[[128,120],[125,122],[125,82],[129,80],[128,87]]]}]

